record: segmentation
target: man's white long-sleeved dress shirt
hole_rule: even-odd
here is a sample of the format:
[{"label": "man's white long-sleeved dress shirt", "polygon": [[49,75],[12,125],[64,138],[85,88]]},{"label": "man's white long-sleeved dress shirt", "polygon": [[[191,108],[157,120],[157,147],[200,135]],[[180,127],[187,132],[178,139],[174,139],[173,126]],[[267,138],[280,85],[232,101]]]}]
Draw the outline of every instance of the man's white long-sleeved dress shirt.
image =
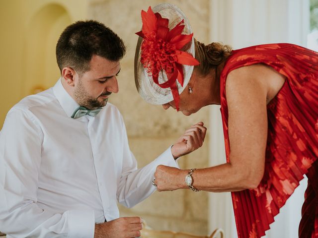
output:
[{"label": "man's white long-sleeved dress shirt", "polygon": [[93,238],[95,223],[119,217],[151,195],[160,164],[178,167],[170,148],[144,168],[123,118],[108,103],[72,119],[79,105],[61,80],[22,99],[0,131],[0,231],[8,238]]}]

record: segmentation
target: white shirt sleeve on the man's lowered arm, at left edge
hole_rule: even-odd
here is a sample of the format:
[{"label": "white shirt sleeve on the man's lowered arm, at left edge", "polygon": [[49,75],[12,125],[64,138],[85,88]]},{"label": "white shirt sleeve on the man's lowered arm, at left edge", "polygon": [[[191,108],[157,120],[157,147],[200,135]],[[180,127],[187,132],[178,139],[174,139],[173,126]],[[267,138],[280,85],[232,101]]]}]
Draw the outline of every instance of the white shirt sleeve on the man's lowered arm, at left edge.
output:
[{"label": "white shirt sleeve on the man's lowered arm, at left edge", "polygon": [[0,131],[0,231],[16,238],[93,238],[92,210],[56,214],[38,206],[43,139],[31,113],[9,111]]}]

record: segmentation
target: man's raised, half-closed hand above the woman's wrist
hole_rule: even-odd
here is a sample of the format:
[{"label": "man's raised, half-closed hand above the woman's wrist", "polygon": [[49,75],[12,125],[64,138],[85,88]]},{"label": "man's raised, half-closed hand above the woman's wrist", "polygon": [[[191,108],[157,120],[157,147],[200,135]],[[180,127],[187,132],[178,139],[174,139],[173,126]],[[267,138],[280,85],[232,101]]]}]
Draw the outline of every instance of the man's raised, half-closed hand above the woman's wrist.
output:
[{"label": "man's raised, half-closed hand above the woman's wrist", "polygon": [[200,148],[203,144],[206,132],[207,128],[203,126],[202,121],[191,125],[171,147],[173,158],[176,159]]}]

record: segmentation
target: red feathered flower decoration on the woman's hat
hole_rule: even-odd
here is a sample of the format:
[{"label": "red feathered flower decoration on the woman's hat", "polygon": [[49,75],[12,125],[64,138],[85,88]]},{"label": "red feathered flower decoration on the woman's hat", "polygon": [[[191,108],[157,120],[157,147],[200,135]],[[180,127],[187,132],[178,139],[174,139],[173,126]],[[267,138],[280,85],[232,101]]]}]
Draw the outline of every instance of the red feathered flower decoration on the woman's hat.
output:
[{"label": "red feathered flower decoration on the woman's hat", "polygon": [[[148,73],[161,88],[170,88],[177,111],[179,111],[179,92],[177,82],[183,86],[182,64],[198,65],[199,61],[192,55],[181,51],[188,42],[192,40],[193,33],[182,35],[184,20],[180,21],[169,31],[169,20],[162,18],[151,7],[148,11],[141,11],[143,21],[142,31],[136,34],[144,41],[141,45],[141,63],[147,68]],[[168,80],[159,83],[159,72],[164,70]]]}]

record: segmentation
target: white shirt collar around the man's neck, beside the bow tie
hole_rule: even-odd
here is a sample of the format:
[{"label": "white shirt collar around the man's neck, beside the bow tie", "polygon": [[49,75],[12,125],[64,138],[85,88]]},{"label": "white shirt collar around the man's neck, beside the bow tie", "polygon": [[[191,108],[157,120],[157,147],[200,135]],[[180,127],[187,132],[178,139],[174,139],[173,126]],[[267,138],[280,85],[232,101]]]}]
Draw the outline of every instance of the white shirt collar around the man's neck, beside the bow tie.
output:
[{"label": "white shirt collar around the man's neck, beside the bow tie", "polygon": [[62,85],[62,78],[59,78],[53,87],[53,93],[59,101],[65,113],[71,117],[74,111],[79,107],[79,104],[71,97]]}]

